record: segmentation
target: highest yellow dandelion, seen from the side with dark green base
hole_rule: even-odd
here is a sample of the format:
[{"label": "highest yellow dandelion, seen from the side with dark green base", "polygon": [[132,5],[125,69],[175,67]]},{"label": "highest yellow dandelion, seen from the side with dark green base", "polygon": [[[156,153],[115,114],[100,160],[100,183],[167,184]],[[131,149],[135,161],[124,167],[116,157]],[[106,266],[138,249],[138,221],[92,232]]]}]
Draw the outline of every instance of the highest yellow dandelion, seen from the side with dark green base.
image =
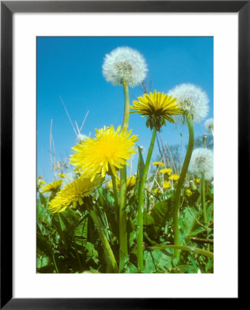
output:
[{"label": "highest yellow dandelion, seen from the side with dark green base", "polygon": [[158,131],[166,125],[166,120],[174,123],[172,115],[183,114],[176,98],[156,90],[153,94],[150,92],[150,94],[138,97],[138,101],[133,101],[130,109],[135,110],[130,113],[139,113],[142,117],[147,117],[146,126],[150,126],[151,130],[155,127]]}]

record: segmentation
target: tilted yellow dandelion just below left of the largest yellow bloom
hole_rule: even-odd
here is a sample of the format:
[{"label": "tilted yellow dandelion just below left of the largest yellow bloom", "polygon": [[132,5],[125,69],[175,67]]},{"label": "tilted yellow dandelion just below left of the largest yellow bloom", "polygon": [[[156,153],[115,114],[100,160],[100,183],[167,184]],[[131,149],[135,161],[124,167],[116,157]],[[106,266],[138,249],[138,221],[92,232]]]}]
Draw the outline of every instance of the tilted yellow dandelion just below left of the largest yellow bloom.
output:
[{"label": "tilted yellow dandelion just below left of the largest yellow bloom", "polygon": [[93,192],[95,187],[102,183],[101,176],[95,176],[91,181],[91,175],[80,176],[71,183],[68,183],[65,188],[60,189],[56,197],[49,203],[49,208],[54,213],[62,212],[70,205],[76,207],[76,204],[83,204],[82,198]]}]

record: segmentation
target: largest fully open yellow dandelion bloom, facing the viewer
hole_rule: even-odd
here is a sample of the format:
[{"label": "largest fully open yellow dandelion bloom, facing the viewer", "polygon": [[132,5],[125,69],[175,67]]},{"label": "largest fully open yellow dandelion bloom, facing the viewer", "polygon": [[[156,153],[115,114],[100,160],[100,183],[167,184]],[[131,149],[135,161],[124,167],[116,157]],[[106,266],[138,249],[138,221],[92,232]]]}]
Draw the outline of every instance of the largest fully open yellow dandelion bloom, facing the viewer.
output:
[{"label": "largest fully open yellow dandelion bloom, facing the viewer", "polygon": [[138,138],[135,135],[130,136],[132,130],[121,130],[121,126],[117,130],[113,125],[104,126],[95,132],[95,138],[86,138],[72,147],[76,153],[71,155],[70,163],[81,172],[92,174],[92,179],[96,174],[102,174],[104,177],[109,172],[109,167],[115,175],[115,167],[122,168],[122,165],[128,165],[126,159],[136,153],[135,142]]}]

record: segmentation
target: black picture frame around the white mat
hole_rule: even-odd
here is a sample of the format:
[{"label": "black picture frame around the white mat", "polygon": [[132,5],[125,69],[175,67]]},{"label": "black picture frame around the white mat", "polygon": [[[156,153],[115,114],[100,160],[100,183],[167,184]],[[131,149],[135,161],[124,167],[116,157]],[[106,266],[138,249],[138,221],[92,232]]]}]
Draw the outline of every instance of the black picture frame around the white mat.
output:
[{"label": "black picture frame around the white mat", "polygon": [[[15,12],[238,12],[238,209],[249,191],[250,1],[1,1],[1,309],[178,309],[175,298],[12,298],[12,15]],[[247,167],[246,167],[247,165]],[[240,176],[245,177],[240,178]],[[248,190],[247,190],[248,189]],[[240,238],[239,238],[240,240]],[[234,304],[239,298],[233,298]],[[207,300],[206,307],[210,301]],[[193,304],[194,307],[194,304]],[[195,308],[195,307],[194,307]]]}]

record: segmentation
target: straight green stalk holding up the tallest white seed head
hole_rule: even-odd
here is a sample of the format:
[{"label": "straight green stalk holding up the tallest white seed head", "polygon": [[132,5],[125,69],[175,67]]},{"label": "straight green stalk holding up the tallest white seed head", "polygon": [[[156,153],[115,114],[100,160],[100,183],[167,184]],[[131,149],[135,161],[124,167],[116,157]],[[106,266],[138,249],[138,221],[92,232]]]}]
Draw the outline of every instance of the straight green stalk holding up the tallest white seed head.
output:
[{"label": "straight green stalk holding up the tallest white seed head", "polygon": [[[122,128],[128,129],[129,120],[129,93],[128,83],[124,82],[124,116],[122,122]],[[120,172],[120,214],[119,214],[119,240],[120,240],[120,266],[122,258],[128,256],[128,240],[127,240],[127,229],[126,229],[126,198],[127,198],[127,185],[126,185],[126,165],[124,165]]]}]

